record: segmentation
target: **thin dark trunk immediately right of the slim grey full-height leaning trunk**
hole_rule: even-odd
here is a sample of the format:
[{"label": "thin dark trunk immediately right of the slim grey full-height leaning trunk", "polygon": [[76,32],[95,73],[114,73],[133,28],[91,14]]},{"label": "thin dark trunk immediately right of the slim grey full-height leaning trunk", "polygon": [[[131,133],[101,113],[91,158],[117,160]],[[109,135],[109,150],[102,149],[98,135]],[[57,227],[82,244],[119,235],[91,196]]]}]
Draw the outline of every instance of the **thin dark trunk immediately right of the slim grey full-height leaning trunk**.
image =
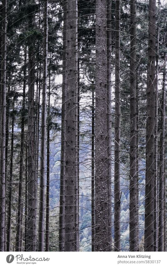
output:
[{"label": "thin dark trunk immediately right of the slim grey full-height leaning trunk", "polygon": [[48,92],[48,124],[47,124],[47,172],[46,172],[46,233],[45,251],[49,251],[49,188],[50,188],[50,71],[49,71],[49,92]]}]

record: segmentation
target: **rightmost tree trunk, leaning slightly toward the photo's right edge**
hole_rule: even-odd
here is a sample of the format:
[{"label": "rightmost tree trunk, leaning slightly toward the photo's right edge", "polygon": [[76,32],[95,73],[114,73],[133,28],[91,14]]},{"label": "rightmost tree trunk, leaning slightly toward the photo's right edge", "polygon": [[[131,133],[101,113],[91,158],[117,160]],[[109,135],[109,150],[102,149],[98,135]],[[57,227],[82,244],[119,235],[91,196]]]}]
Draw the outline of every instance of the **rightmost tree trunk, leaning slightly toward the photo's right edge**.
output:
[{"label": "rightmost tree trunk, leaning slightly toward the photo's right edge", "polygon": [[[166,39],[166,37],[165,37]],[[164,40],[165,44],[165,40]],[[164,251],[164,142],[165,142],[165,84],[166,84],[166,52],[164,52],[162,105],[161,105],[161,134],[159,149],[159,236],[158,251]]]}]

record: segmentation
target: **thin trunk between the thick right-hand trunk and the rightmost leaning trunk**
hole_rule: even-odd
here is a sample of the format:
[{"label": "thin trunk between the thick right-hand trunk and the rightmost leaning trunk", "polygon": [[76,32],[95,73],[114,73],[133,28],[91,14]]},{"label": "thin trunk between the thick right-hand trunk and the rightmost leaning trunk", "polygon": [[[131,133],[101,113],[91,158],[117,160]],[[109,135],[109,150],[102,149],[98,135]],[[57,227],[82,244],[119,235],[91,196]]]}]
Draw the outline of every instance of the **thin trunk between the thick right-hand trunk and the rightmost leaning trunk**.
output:
[{"label": "thin trunk between the thick right-hand trunk and the rightmost leaning trunk", "polygon": [[159,21],[157,25],[156,79],[155,79],[155,161],[154,161],[154,251],[158,251],[158,64],[159,64]]}]

